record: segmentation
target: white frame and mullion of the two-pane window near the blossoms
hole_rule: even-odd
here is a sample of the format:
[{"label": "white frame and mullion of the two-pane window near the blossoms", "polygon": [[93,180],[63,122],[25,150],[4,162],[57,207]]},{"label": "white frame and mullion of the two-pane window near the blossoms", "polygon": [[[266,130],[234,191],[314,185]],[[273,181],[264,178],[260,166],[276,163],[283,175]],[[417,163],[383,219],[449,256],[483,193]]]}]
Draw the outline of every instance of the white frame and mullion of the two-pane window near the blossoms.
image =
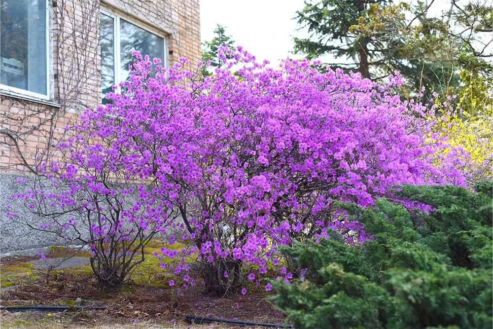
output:
[{"label": "white frame and mullion of the two-pane window near the blossoms", "polygon": [[[145,30],[157,37],[160,37],[163,39],[163,63],[162,66],[164,68],[168,68],[168,39],[167,35],[163,33],[162,31],[153,28],[152,26],[149,26],[145,23],[142,23],[138,20],[135,20],[129,15],[126,15],[122,12],[116,11],[114,9],[108,8],[108,7],[101,7],[101,13],[113,18],[113,51],[114,51],[114,61],[113,61],[113,74],[114,74],[114,85],[117,86],[117,91],[119,91],[118,85],[121,82],[124,82],[122,80],[122,72],[121,72],[121,49],[120,49],[120,19],[123,19],[126,22],[129,22],[130,24],[133,24],[142,30]],[[101,51],[100,51],[101,54]],[[100,86],[100,90],[102,89],[102,86]]]}]

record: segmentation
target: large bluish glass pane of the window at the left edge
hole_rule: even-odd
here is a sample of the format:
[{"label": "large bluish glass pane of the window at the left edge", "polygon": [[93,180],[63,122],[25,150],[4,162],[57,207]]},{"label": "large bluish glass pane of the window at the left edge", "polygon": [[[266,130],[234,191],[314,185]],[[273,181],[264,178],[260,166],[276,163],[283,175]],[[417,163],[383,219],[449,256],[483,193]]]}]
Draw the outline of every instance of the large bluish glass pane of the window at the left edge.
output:
[{"label": "large bluish glass pane of the window at the left edge", "polygon": [[46,0],[0,1],[0,82],[47,95]]}]

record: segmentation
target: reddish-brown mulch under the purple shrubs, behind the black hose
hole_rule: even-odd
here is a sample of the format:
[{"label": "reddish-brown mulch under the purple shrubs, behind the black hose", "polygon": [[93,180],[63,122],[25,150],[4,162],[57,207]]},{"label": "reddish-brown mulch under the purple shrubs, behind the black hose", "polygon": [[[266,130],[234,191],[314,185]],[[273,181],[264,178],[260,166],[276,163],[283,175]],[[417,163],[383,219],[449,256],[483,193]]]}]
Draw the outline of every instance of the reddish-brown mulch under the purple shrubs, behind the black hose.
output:
[{"label": "reddish-brown mulch under the purple shrubs, behind the black hose", "polygon": [[[97,288],[91,275],[53,273],[49,279],[41,276],[35,284],[24,283],[1,294],[0,304],[64,305],[80,297],[84,305],[109,306],[104,314],[118,323],[129,319],[160,319],[170,323],[182,321],[184,315],[207,316],[230,320],[282,323],[284,316],[266,301],[266,292],[247,287],[248,293],[212,297],[202,292],[203,287],[189,287],[182,293],[175,289],[156,289],[130,285],[121,292],[107,293]],[[99,312],[100,314],[102,312]]]}]

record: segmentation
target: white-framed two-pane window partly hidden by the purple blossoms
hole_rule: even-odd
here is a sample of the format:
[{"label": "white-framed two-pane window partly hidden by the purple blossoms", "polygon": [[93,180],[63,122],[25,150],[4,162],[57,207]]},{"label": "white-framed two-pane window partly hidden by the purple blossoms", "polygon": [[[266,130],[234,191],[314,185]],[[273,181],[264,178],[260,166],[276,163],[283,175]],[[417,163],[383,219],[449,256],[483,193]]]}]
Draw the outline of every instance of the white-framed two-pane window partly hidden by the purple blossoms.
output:
[{"label": "white-framed two-pane window partly hidden by the purple blossoms", "polygon": [[132,52],[140,51],[150,58],[160,58],[165,64],[165,39],[112,13],[101,13],[101,73],[102,100],[111,87],[129,76],[128,67],[132,64]]}]

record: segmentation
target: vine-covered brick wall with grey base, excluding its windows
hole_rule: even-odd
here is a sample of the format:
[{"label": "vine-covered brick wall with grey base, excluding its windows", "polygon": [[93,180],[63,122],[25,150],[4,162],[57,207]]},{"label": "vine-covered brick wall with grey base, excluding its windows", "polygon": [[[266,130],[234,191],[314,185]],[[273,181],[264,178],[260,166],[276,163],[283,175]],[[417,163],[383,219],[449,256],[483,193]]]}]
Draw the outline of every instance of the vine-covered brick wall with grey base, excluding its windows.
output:
[{"label": "vine-covered brick wall with grey base, excluding its windows", "polygon": [[[30,167],[56,157],[54,146],[65,136],[65,126],[101,98],[100,12],[110,9],[166,35],[169,65],[187,57],[201,59],[199,0],[57,0],[50,6],[50,100],[33,101],[0,93],[0,196],[10,195],[15,175],[32,174]],[[29,166],[23,166],[27,163]],[[12,176],[13,175],[13,176]],[[0,235],[4,224],[1,203]],[[10,234],[10,233],[8,233]],[[19,237],[22,239],[22,234]],[[42,237],[36,237],[36,239]],[[5,251],[4,241],[0,247]],[[15,242],[15,240],[14,240]],[[41,246],[19,241],[19,247]],[[15,243],[8,249],[15,249]]]}]

